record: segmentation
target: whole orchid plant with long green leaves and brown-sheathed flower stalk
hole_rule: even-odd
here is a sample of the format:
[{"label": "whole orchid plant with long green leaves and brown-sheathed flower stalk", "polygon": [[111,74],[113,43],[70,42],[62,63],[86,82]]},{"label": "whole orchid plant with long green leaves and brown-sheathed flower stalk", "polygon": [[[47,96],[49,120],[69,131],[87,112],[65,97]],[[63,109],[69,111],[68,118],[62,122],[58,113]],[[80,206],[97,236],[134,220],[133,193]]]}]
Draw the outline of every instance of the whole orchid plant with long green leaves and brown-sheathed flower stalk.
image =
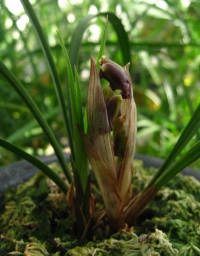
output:
[{"label": "whole orchid plant with long green leaves and brown-sheathed flower stalk", "polygon": [[[21,2],[36,30],[49,64],[67,130],[71,149],[72,171],[64,158],[58,140],[41,114],[40,109],[21,82],[2,62],[0,62],[1,74],[21,96],[43,129],[55,150],[67,182],[49,166],[9,141],[0,138],[0,146],[35,165],[65,193],[74,216],[74,230],[77,237],[86,237],[92,225],[95,225],[92,220],[95,215],[96,200],[90,194],[89,162],[104,201],[111,231],[114,232],[124,228],[126,224],[131,226],[159,189],[170,178],[200,157],[199,141],[178,161],[174,162],[176,156],[200,127],[200,104],[156,175],[145,188],[141,188],[141,192],[132,195],[137,113],[133,97],[133,84],[129,73],[130,63],[121,67],[103,55],[107,22],[102,35],[98,61],[95,63],[93,57],[91,58],[87,106],[84,113],[81,104],[79,76],[76,68],[73,72],[64,40],[58,33],[59,42],[67,63],[68,108],[66,108],[58,73],[41,25],[29,1],[21,0]],[[112,15],[111,17],[113,18]],[[116,22],[118,22],[118,19],[115,19]],[[101,79],[108,81],[108,85],[104,89],[101,87]]]}]

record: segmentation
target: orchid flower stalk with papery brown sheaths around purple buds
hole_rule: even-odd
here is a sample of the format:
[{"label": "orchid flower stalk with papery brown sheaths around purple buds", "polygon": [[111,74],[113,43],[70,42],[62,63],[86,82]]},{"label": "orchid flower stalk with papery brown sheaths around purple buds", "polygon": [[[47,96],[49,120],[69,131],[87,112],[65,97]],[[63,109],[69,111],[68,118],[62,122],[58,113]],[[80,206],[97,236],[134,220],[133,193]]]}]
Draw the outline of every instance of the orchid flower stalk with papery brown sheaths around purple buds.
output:
[{"label": "orchid flower stalk with papery brown sheaths around purple buds", "polygon": [[[91,58],[87,91],[89,137],[82,130],[80,133],[110,226],[117,230],[124,228],[123,210],[132,198],[137,114],[129,64],[120,67],[102,56],[99,66],[100,75]],[[104,90],[100,78],[109,82]]]}]

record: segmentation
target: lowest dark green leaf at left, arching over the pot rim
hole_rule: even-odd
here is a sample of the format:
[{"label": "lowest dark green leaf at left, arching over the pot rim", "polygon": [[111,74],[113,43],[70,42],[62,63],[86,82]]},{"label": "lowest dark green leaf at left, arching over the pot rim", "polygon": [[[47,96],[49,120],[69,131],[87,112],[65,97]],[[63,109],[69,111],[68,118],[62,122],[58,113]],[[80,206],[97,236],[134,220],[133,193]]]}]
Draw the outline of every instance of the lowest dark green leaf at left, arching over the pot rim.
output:
[{"label": "lowest dark green leaf at left, arching over the pot rim", "polygon": [[56,174],[56,172],[54,172],[51,168],[49,168],[49,166],[45,165],[36,157],[26,153],[24,150],[21,150],[21,148],[18,148],[15,145],[11,144],[10,142],[7,142],[1,138],[0,138],[0,146],[3,148],[6,148],[12,153],[17,154],[18,156],[27,160],[32,165],[36,166],[40,171],[42,171],[45,175],[47,175],[53,182],[55,182],[56,185],[58,185],[58,187],[62,190],[62,192],[67,194],[67,191],[68,191],[67,184],[58,174]]}]

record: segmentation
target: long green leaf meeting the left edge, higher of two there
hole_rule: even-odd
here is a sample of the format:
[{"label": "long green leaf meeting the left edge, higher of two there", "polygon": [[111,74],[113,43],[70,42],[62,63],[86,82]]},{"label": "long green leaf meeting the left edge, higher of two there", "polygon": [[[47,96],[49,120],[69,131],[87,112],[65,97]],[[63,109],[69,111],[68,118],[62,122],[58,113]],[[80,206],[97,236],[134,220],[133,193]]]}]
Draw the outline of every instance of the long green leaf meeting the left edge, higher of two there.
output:
[{"label": "long green leaf meeting the left edge, higher of two there", "polygon": [[36,105],[34,100],[31,98],[27,90],[23,87],[21,82],[19,82],[19,80],[13,75],[13,73],[9,69],[7,69],[7,67],[1,61],[0,61],[0,72],[4,76],[4,78],[10,83],[10,85],[15,89],[15,91],[19,94],[19,96],[22,98],[22,100],[26,103],[26,105],[30,109],[31,113],[36,118],[37,122],[43,129],[45,135],[49,139],[50,144],[55,150],[55,154],[58,157],[59,163],[61,164],[62,169],[68,181],[71,182],[72,180],[71,172],[66,163],[61,147],[55,135],[53,134],[52,130],[50,129],[49,125],[47,124],[45,118],[41,114],[38,106]]}]

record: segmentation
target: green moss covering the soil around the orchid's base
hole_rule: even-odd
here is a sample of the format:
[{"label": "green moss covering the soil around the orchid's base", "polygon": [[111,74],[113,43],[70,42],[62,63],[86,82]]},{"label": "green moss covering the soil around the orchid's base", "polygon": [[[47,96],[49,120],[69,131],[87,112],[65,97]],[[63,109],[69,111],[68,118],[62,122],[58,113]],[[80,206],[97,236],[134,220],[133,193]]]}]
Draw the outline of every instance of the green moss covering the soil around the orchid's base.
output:
[{"label": "green moss covering the soil around the orchid's base", "polygon": [[[59,171],[56,164],[55,170]],[[133,193],[144,187],[155,169],[135,161]],[[92,186],[98,198],[98,189]],[[200,255],[200,183],[177,175],[157,194],[134,227],[109,237],[106,219],[93,241],[74,237],[65,196],[42,173],[0,202],[0,255],[25,256],[159,256]],[[101,199],[97,207],[101,207]]]}]

